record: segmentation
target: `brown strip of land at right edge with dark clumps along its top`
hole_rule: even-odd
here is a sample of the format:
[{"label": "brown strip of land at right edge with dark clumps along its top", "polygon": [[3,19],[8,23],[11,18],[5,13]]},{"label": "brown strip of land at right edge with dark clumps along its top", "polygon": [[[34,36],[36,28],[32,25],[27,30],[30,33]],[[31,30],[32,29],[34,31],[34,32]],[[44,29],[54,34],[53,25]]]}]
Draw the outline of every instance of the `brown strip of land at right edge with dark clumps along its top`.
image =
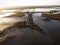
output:
[{"label": "brown strip of land at right edge with dark clumps along its top", "polygon": [[60,11],[50,11],[47,13],[43,13],[42,17],[46,17],[48,19],[60,20]]}]

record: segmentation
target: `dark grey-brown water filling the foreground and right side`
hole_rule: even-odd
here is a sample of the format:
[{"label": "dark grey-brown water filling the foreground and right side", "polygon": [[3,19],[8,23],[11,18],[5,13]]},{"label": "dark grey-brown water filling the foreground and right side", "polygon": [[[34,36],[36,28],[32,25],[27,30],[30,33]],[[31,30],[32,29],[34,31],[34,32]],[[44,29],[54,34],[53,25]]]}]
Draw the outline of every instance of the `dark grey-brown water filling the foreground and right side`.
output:
[{"label": "dark grey-brown water filling the foreground and right side", "polygon": [[33,16],[34,23],[37,24],[43,31],[32,30],[30,27],[18,28],[15,27],[9,31],[16,35],[0,45],[60,45],[60,21],[44,20],[41,15]]}]

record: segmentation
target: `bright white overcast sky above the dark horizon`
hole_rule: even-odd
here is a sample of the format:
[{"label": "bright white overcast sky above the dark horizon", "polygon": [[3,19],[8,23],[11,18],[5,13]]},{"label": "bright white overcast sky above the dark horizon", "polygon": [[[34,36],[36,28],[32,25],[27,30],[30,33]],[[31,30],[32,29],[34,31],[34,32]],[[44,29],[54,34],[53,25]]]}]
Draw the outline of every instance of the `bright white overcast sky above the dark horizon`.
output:
[{"label": "bright white overcast sky above the dark horizon", "polygon": [[60,5],[60,0],[0,0],[0,7]]}]

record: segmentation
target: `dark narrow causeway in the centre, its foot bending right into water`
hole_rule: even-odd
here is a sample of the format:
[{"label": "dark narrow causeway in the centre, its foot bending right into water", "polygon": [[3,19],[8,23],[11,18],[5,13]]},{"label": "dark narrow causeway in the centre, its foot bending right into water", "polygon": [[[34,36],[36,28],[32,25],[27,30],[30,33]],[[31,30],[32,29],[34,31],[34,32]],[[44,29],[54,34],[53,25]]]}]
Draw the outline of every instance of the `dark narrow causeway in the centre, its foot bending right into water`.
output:
[{"label": "dark narrow causeway in the centre, its foot bending right into water", "polygon": [[32,14],[33,14],[33,12],[28,12],[28,22],[27,22],[28,26],[32,29],[42,31],[42,29],[39,26],[34,24]]}]

